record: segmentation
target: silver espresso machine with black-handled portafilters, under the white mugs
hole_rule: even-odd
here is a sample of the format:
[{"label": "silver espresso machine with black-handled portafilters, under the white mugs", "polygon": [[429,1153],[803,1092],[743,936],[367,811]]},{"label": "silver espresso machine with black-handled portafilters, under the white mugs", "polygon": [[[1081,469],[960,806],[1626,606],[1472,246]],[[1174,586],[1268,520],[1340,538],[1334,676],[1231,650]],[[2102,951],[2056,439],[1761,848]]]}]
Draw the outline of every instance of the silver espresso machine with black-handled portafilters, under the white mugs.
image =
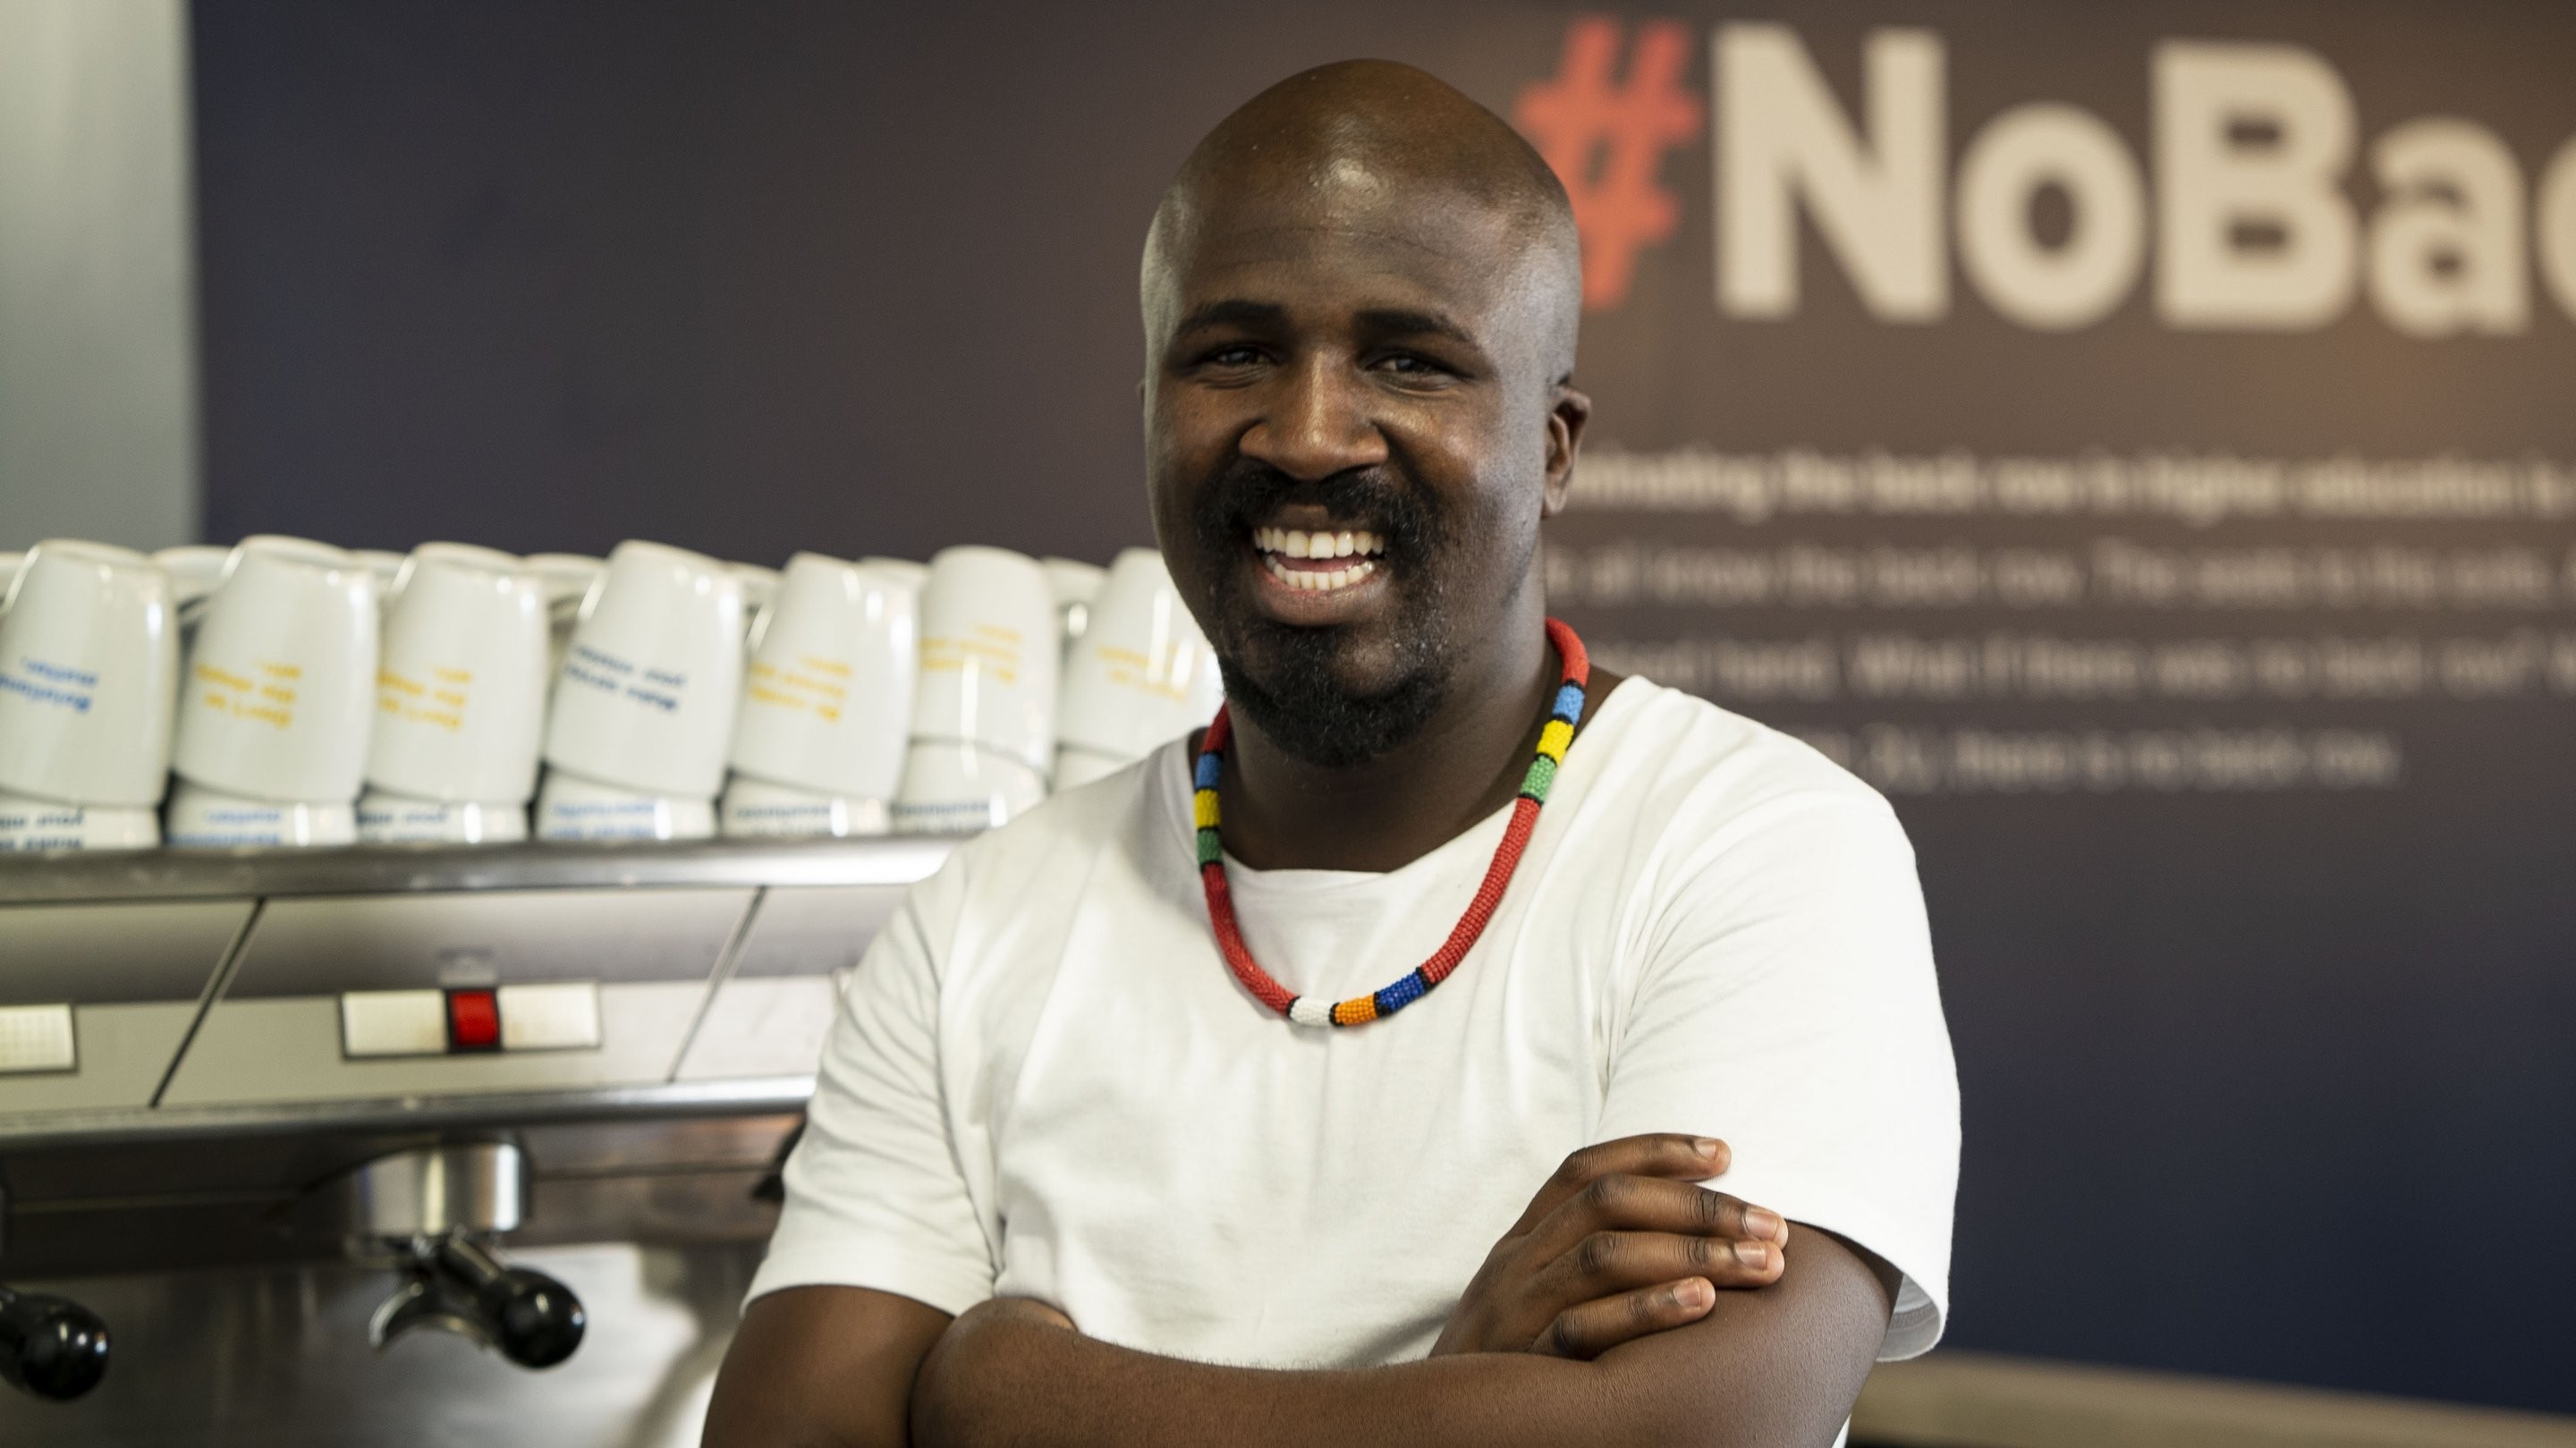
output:
[{"label": "silver espresso machine with black-handled portafilters, under the white mugs", "polygon": [[696,1443],[938,837],[0,868],[0,1443]]}]

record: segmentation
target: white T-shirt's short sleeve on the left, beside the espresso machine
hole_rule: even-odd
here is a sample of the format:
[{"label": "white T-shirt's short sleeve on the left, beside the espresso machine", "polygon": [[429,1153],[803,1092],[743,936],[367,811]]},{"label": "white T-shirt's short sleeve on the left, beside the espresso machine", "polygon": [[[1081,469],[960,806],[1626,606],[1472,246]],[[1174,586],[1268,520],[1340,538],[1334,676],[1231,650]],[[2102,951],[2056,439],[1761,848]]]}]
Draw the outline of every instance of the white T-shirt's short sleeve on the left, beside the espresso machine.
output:
[{"label": "white T-shirt's short sleeve on the left, beside the espresso machine", "polygon": [[750,1296],[876,1288],[958,1314],[992,1296],[984,1226],[940,1092],[935,930],[943,873],[914,889],[840,992],[786,1211]]}]

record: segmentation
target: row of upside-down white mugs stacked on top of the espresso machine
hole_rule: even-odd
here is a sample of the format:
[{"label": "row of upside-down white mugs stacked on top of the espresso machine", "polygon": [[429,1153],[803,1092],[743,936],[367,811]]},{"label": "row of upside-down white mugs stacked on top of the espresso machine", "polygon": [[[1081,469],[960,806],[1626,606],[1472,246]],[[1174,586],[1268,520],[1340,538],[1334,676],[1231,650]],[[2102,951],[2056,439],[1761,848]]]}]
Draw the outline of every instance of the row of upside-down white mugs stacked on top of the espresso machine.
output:
[{"label": "row of upside-down white mugs stacked on top of the espresso machine", "polygon": [[[0,848],[961,832],[1216,709],[1159,554],[0,557]],[[544,788],[538,791],[538,765]],[[729,781],[729,783],[726,783]],[[721,794],[721,801],[719,801]]]}]

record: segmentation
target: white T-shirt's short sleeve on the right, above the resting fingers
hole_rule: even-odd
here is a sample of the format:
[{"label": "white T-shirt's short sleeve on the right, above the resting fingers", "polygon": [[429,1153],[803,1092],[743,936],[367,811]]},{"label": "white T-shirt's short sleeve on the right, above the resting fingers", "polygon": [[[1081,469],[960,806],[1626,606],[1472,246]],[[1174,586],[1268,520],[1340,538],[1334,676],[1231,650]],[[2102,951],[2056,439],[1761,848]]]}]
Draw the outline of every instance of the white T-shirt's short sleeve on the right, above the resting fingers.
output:
[{"label": "white T-shirt's short sleeve on the right, above the resting fingers", "polygon": [[1893,1262],[1880,1360],[1924,1353],[1950,1309],[1958,1072],[1893,812],[1857,786],[1772,799],[1654,894],[1600,1136],[1726,1139],[1710,1185]]}]

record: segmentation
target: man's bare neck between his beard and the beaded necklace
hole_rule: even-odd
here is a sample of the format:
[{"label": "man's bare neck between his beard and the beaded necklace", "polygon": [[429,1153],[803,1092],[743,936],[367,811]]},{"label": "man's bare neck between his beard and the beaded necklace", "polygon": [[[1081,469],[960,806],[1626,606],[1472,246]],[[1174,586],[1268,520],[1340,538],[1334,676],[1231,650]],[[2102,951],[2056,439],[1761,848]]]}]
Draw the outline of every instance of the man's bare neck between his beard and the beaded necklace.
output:
[{"label": "man's bare neck between his beard and the beaded necklace", "polygon": [[[1497,644],[1499,657],[1468,660],[1453,675],[1450,696],[1419,734],[1355,765],[1301,760],[1236,714],[1218,786],[1226,853],[1267,871],[1383,873],[1510,804],[1564,665],[1538,626]],[[1607,683],[1592,670],[1592,703]]]}]

